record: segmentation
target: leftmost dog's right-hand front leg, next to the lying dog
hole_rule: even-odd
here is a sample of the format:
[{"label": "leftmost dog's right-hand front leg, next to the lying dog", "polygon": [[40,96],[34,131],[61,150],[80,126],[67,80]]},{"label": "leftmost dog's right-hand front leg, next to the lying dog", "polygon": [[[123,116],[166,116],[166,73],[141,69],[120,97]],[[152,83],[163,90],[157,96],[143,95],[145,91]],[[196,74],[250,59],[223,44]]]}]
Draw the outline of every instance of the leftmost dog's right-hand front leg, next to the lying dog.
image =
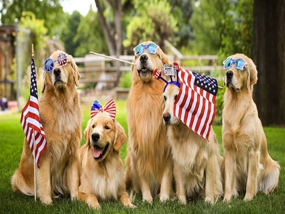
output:
[{"label": "leftmost dog's right-hand front leg, next to the lying dog", "polygon": [[70,157],[67,165],[67,188],[70,191],[71,200],[78,198],[78,187],[79,187],[79,168],[80,168],[80,157],[79,152],[76,152]]}]

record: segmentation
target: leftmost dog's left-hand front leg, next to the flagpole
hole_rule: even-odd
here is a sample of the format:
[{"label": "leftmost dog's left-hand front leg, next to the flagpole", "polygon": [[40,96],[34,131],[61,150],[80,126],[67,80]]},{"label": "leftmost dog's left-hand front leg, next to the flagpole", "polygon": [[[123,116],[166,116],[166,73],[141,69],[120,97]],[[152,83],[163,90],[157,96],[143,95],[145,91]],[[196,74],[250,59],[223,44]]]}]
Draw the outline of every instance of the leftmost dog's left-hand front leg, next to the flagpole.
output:
[{"label": "leftmost dog's left-hand front leg, next to the flagpole", "polygon": [[[37,170],[37,194],[41,202],[51,204],[50,159],[42,156],[40,169]],[[44,159],[45,158],[45,159]]]}]

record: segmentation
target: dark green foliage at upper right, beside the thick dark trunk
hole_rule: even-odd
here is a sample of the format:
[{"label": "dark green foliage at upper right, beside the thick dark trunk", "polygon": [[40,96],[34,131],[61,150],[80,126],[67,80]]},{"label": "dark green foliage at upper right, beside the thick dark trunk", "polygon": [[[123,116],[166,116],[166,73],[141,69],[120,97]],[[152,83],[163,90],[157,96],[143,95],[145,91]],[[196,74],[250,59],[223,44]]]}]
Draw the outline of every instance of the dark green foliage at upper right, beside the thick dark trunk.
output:
[{"label": "dark green foliage at upper right, beside the thick dark trunk", "polygon": [[195,3],[190,20],[193,48],[199,54],[251,56],[253,0],[207,0]]}]

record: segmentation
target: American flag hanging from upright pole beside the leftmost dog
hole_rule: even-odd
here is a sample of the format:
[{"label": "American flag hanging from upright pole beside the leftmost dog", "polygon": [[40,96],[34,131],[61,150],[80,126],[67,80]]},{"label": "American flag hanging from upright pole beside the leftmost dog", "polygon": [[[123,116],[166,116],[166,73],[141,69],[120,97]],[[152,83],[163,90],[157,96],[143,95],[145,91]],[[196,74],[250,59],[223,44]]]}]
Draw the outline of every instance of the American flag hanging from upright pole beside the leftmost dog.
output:
[{"label": "American flag hanging from upright pole beside the leftmost dog", "polygon": [[30,145],[33,155],[34,155],[34,136],[35,136],[35,144],[36,144],[35,159],[38,168],[40,168],[39,167],[40,158],[42,153],[46,149],[46,138],[39,114],[39,100],[38,100],[37,78],[36,78],[34,58],[32,58],[32,66],[31,66],[30,97],[29,101],[27,101],[26,105],[22,110],[21,125],[25,132],[27,142]]}]

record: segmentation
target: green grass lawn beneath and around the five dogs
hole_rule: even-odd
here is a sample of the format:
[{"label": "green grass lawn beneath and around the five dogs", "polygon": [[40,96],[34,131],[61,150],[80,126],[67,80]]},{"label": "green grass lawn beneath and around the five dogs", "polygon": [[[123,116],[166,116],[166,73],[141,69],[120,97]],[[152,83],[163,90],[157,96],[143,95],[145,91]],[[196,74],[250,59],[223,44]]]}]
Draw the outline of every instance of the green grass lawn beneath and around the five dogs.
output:
[{"label": "green grass lawn beneath and around the five dogs", "polygon": [[[100,100],[99,100],[100,101]],[[102,102],[102,105],[105,103]],[[126,101],[117,100],[117,121],[125,128]],[[82,106],[83,120],[82,133],[90,118],[91,106]],[[46,206],[34,197],[17,195],[13,193],[10,178],[19,166],[24,132],[20,124],[20,113],[0,115],[0,213],[97,213],[80,201],[72,202],[68,197],[54,199],[53,204]],[[214,126],[222,154],[221,126]],[[215,205],[210,205],[202,199],[190,199],[187,205],[180,205],[178,200],[161,203],[156,198],[153,204],[143,203],[141,195],[137,194],[133,204],[136,209],[123,207],[117,201],[105,201],[101,203],[102,213],[284,213],[285,212],[285,128],[264,128],[268,150],[271,157],[279,161],[281,172],[279,176],[278,190],[267,196],[258,193],[252,201],[244,202],[244,192],[229,204],[223,204],[219,200]],[[83,135],[82,135],[83,136]],[[84,139],[81,145],[84,144]],[[121,149],[121,157],[126,157],[126,144]]]}]

